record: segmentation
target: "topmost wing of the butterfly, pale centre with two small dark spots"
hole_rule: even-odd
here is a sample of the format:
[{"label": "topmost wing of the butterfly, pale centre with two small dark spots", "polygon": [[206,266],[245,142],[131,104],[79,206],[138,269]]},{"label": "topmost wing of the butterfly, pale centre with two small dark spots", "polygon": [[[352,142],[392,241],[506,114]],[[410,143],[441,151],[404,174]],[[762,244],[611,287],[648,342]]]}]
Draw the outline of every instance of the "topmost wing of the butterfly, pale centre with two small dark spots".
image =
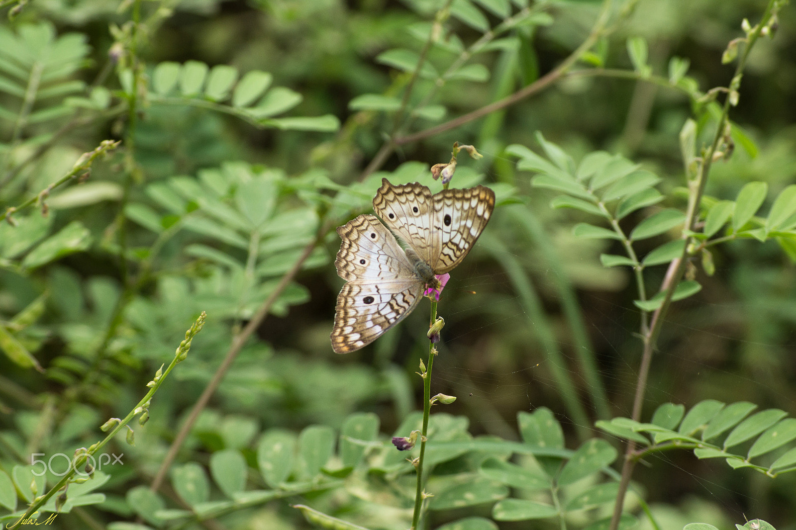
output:
[{"label": "topmost wing of the butterfly, pale centre with two small dark spots", "polygon": [[431,214],[434,212],[431,190],[419,182],[392,185],[386,178],[373,197],[373,210],[387,226],[431,265]]}]

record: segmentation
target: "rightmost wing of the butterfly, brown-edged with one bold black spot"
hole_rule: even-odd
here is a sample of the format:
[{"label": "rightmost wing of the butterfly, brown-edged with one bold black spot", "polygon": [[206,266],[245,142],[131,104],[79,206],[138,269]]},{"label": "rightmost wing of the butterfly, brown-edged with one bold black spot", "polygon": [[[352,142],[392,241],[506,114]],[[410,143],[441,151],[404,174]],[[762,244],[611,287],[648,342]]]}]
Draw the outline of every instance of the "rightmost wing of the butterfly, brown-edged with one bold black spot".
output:
[{"label": "rightmost wing of the butterfly, brown-edged with one bold black spot", "polygon": [[443,189],[432,197],[431,261],[435,274],[451,271],[462,262],[481,236],[495,206],[494,192],[478,185]]}]

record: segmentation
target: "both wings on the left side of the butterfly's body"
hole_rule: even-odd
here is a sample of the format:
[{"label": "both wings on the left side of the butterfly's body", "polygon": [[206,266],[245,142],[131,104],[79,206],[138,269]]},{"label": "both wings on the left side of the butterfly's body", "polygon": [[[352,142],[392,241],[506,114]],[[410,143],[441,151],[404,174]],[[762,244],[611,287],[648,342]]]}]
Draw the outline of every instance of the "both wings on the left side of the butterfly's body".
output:
[{"label": "both wings on the left side of the butterfly's body", "polygon": [[338,228],[334,261],[348,280],[338,294],[332,348],[349,353],[369,345],[417,306],[423,283],[395,237],[375,216],[361,215]]}]

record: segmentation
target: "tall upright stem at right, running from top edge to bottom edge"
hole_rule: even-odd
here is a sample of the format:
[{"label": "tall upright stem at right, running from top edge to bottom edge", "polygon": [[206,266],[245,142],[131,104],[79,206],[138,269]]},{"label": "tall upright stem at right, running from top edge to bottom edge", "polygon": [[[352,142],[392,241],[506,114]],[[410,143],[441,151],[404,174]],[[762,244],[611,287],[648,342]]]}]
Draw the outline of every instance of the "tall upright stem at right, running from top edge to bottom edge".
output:
[{"label": "tall upright stem at right, running from top edge to bottom edge", "polygon": [[[743,76],[743,68],[746,66],[749,53],[760,36],[761,29],[763,29],[763,26],[767,25],[769,18],[771,17],[772,10],[777,2],[778,0],[769,0],[766,9],[763,11],[763,16],[760,18],[759,24],[756,25],[751,33],[747,36],[747,43],[743,47],[743,53],[739,55],[738,64],[736,64],[736,71],[732,76],[732,81],[730,82],[730,87],[732,89],[738,89],[740,80]],[[702,196],[704,194],[704,188],[708,183],[708,175],[712,166],[713,156],[716,154],[721,139],[724,137],[724,127],[728,123],[731,105],[731,98],[730,95],[728,95],[724,99],[724,107],[722,107],[720,118],[718,123],[716,123],[716,134],[714,134],[713,141],[708,147],[708,150],[704,152],[702,162],[697,170],[696,181],[689,183],[689,190],[691,193],[689,194],[689,206],[685,214],[685,228],[689,232],[694,231],[696,228],[696,223],[699,221],[700,205],[702,202]],[[686,163],[687,162],[688,161],[686,161]],[[633,400],[633,414],[631,416],[631,418],[635,421],[639,421],[641,419],[642,405],[646,392],[646,383],[650,375],[650,364],[652,363],[652,356],[655,350],[657,337],[661,333],[661,326],[666,313],[669,310],[669,305],[672,302],[674,290],[677,288],[677,284],[680,283],[680,280],[685,273],[688,247],[689,243],[693,241],[693,237],[686,236],[685,240],[685,246],[683,247],[683,252],[680,257],[673,259],[673,261],[669,263],[669,271],[667,271],[664,283],[661,286],[661,291],[665,292],[663,302],[661,303],[661,306],[655,310],[650,322],[650,328],[647,329],[646,332],[642,329],[642,364],[638,370],[638,381],[636,384],[636,392]],[[611,525],[609,527],[610,530],[616,530],[618,528],[619,519],[622,516],[625,493],[627,492],[628,485],[630,485],[630,477],[633,474],[633,467],[636,462],[636,459],[634,458],[634,451],[635,442],[629,440],[626,446],[624,462],[622,462],[622,478],[619,481],[619,489],[614,505],[614,513],[611,516]]]}]

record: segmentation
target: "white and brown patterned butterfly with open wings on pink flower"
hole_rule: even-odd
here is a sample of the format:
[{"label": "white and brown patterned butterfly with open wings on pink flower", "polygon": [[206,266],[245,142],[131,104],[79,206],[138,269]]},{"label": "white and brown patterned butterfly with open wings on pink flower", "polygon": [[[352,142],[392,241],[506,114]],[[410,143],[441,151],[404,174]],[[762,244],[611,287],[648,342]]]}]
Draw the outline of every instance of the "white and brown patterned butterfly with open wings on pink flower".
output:
[{"label": "white and brown patterned butterfly with open wings on pink flower", "polygon": [[362,214],[338,228],[334,261],[347,281],[338,294],[332,348],[349,353],[369,345],[412,313],[435,275],[462,262],[486,227],[494,192],[478,185],[431,194],[414,182],[392,185],[383,178],[373,210],[404,242],[402,248],[377,216]]}]

